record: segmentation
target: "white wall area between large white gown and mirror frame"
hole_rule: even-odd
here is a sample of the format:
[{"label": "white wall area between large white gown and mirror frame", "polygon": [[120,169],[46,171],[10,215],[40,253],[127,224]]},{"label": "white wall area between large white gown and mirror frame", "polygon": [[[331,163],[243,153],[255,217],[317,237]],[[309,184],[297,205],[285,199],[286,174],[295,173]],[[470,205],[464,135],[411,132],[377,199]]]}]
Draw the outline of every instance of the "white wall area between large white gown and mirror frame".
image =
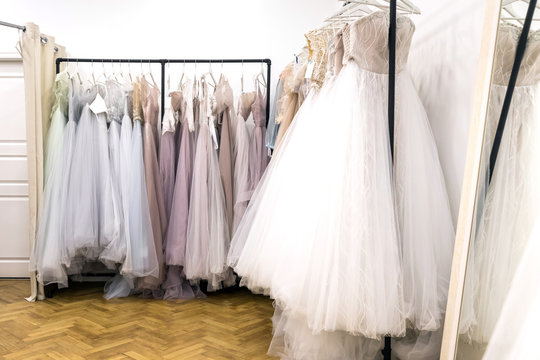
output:
[{"label": "white wall area between large white gown and mirror frame", "polygon": [[437,142],[456,223],[486,0],[415,3],[422,15],[414,18],[409,70]]}]

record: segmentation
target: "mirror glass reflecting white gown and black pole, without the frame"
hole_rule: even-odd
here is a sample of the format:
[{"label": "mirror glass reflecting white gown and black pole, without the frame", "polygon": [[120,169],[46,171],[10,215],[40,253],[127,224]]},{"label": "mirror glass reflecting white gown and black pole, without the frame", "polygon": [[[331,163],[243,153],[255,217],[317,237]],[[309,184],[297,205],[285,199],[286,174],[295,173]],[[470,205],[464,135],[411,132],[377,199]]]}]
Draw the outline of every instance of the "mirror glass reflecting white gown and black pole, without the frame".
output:
[{"label": "mirror glass reflecting white gown and black pole, without the frame", "polygon": [[502,3],[461,308],[458,359],[516,358],[503,356],[499,348],[512,351],[508,342],[501,346],[500,339],[510,341],[518,336],[517,330],[507,333],[512,318],[502,313],[510,306],[505,303],[511,301],[509,294],[519,281],[516,271],[529,242],[534,240],[533,228],[539,220],[540,33],[536,29],[540,11],[535,9],[532,3],[529,10],[529,1]]}]

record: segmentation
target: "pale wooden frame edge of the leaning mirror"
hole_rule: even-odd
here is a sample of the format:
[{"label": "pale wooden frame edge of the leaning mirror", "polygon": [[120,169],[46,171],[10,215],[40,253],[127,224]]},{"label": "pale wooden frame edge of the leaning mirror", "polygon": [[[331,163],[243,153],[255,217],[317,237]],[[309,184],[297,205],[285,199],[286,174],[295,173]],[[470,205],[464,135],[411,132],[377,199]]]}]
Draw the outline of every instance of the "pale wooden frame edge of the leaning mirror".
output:
[{"label": "pale wooden frame edge of the leaning mirror", "polygon": [[448,302],[446,304],[446,316],[440,357],[443,360],[453,360],[456,357],[461,303],[465,286],[469,244],[472,234],[473,216],[480,175],[480,161],[482,158],[482,145],[491,88],[491,74],[493,70],[495,46],[497,43],[497,32],[499,28],[501,2],[502,0],[486,0],[485,4],[482,43],[478,59],[478,71],[476,73],[476,85],[472,106],[471,125],[469,128],[465,172],[461,187],[459,216],[452,258],[452,272],[450,275]]}]

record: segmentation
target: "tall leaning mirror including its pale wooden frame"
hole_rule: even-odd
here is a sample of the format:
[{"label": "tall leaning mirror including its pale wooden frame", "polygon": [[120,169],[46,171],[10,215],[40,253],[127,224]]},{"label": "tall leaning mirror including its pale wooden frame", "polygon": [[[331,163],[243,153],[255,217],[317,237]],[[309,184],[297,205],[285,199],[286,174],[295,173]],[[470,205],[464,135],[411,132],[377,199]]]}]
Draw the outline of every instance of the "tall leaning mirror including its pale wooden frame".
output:
[{"label": "tall leaning mirror including its pale wooden frame", "polygon": [[519,331],[503,308],[511,306],[505,303],[540,214],[536,7],[526,0],[487,4],[443,359],[516,358],[508,357],[509,343]]}]

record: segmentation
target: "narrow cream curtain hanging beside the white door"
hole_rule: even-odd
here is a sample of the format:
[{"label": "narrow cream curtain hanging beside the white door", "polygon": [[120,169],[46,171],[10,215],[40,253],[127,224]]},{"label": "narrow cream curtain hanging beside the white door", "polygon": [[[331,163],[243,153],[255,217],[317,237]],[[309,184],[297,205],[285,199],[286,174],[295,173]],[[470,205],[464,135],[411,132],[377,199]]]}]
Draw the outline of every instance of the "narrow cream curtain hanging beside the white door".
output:
[{"label": "narrow cream curtain hanging beside the white door", "polygon": [[[43,144],[54,102],[55,60],[65,56],[65,48],[56,44],[54,37],[44,36],[48,39],[46,43],[41,41],[39,26],[28,23],[19,43],[24,69],[31,252],[34,251],[37,214],[43,195]],[[44,298],[43,286],[37,283],[35,272],[30,273],[30,286],[31,294],[27,300]]]}]

